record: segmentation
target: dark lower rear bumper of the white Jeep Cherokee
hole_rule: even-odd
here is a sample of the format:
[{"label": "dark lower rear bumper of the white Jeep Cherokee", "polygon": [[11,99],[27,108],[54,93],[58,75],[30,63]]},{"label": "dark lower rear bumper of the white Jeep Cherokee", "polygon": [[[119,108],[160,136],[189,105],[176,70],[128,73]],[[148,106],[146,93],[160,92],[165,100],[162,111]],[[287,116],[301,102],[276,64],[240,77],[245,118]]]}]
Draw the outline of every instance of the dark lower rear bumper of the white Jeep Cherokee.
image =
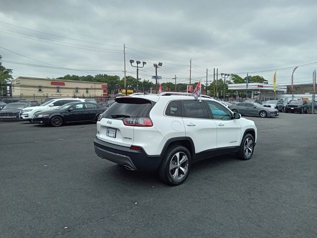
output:
[{"label": "dark lower rear bumper of the white Jeep Cherokee", "polygon": [[98,138],[94,140],[95,153],[130,170],[156,171],[161,161],[160,156],[149,156],[143,149],[131,150],[129,147],[111,144]]}]

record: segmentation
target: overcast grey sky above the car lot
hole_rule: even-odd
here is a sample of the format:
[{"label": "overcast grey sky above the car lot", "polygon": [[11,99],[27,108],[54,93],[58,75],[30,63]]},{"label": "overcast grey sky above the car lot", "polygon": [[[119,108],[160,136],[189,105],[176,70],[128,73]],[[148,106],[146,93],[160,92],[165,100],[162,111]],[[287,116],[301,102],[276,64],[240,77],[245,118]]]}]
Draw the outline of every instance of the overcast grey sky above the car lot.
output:
[{"label": "overcast grey sky above the car lot", "polygon": [[[272,83],[312,82],[317,68],[316,0],[0,0],[0,55],[13,77],[65,74],[206,84],[219,73]],[[37,61],[38,60],[38,61]],[[27,64],[27,65],[26,65]],[[52,68],[54,67],[54,68]],[[64,68],[72,68],[69,70]],[[94,71],[96,70],[96,71]],[[103,71],[101,71],[103,70]],[[266,71],[268,70],[268,71]],[[153,80],[154,82],[154,80]]]}]

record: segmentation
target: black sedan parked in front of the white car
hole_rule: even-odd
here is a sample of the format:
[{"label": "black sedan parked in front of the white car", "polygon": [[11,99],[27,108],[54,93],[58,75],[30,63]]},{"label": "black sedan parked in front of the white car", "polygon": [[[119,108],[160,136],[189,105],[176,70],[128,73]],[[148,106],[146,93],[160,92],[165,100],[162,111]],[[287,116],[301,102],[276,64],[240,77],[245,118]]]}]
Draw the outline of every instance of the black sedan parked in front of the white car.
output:
[{"label": "black sedan parked in front of the white car", "polygon": [[39,112],[33,115],[32,122],[60,126],[71,122],[97,121],[106,108],[96,103],[72,102],[54,110]]}]

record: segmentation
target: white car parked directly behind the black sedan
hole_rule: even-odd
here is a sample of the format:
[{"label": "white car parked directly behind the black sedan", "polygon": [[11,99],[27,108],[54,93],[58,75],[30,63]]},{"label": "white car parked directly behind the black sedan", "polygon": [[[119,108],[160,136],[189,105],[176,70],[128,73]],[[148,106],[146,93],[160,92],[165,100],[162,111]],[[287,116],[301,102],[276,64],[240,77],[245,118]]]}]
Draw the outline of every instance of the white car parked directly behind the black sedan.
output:
[{"label": "white car parked directly behind the black sedan", "polygon": [[60,106],[63,106],[66,103],[71,103],[71,102],[85,102],[84,99],[79,99],[79,98],[58,98],[58,99],[53,99],[50,100],[40,106],[37,107],[29,107],[29,108],[24,108],[20,112],[20,119],[22,120],[28,120],[32,121],[32,117],[35,113],[43,112],[43,111],[49,111],[54,108],[58,108]]}]

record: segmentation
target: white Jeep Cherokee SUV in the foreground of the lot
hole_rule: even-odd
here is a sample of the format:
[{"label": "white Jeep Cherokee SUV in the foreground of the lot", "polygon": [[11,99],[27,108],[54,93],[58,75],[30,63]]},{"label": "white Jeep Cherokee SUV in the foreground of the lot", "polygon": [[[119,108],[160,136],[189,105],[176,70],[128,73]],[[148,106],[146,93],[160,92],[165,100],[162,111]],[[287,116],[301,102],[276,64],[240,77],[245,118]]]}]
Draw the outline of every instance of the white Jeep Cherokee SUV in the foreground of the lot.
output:
[{"label": "white Jeep Cherokee SUV in the foreground of the lot", "polygon": [[100,115],[96,154],[130,170],[158,171],[171,185],[181,184],[191,165],[235,152],[249,160],[257,127],[210,97],[161,93],[115,99]]}]

